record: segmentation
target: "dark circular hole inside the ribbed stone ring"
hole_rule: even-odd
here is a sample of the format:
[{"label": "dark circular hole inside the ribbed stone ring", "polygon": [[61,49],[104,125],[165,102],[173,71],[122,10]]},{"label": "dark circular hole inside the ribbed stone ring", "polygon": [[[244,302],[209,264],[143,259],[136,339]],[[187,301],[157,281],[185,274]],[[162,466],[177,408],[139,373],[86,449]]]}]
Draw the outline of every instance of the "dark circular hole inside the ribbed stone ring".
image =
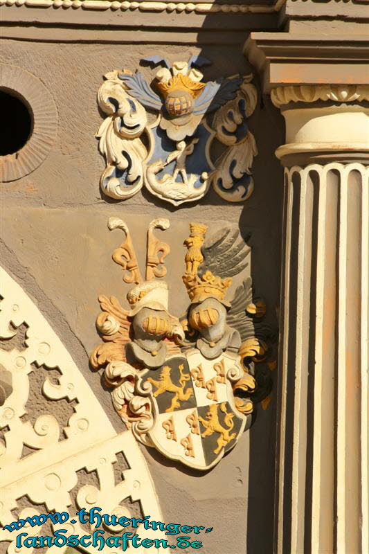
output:
[{"label": "dark circular hole inside the ribbed stone ring", "polygon": [[0,89],[0,156],[15,154],[26,145],[33,118],[26,102],[15,93]]}]

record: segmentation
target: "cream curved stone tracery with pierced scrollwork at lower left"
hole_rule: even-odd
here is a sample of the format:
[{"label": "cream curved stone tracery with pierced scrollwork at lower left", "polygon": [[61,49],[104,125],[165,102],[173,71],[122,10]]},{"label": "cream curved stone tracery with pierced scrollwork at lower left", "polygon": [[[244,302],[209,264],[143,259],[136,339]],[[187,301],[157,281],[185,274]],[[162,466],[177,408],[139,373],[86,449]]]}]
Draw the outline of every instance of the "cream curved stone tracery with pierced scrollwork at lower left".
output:
[{"label": "cream curved stone tracery with pierced scrollwork at lower left", "polygon": [[[1,363],[6,368],[5,401],[0,407],[1,524],[15,521],[15,514],[23,519],[47,510],[65,511],[72,516],[80,508],[89,510],[93,506],[117,517],[136,517],[138,513],[162,521],[150,472],[132,435],[129,431],[116,434],[100,402],[33,301],[3,269],[0,280],[2,343],[14,340],[21,325],[27,326],[22,346],[1,351]],[[39,394],[48,407],[32,424],[32,406],[27,407],[29,379],[41,368],[44,375],[55,370],[57,373],[52,379],[41,379]],[[62,399],[73,406],[73,413],[67,415],[61,427],[55,413]],[[22,501],[24,497],[30,502]],[[80,524],[68,521],[53,524],[52,528],[44,524],[30,535],[47,535],[46,531],[58,528],[65,528],[68,535],[88,532]],[[106,530],[114,532],[117,528]],[[0,530],[0,540],[10,542],[8,554],[17,551],[14,534]],[[141,529],[141,535],[146,537],[147,531]],[[97,552],[91,546],[83,549]],[[32,548],[24,550],[33,552]],[[58,552],[65,550],[66,547],[57,548]],[[130,548],[131,551],[145,549]],[[55,552],[55,547],[46,552]]]}]

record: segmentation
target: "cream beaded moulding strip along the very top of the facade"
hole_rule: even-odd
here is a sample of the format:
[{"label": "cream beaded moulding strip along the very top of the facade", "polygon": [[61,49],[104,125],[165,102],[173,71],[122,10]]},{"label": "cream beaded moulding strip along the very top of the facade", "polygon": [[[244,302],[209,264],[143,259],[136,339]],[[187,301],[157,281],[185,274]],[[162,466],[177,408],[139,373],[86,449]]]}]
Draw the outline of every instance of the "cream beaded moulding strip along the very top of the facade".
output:
[{"label": "cream beaded moulding strip along the very top of the facade", "polygon": [[107,1],[107,0],[0,0],[0,6],[26,6],[28,8],[82,8],[84,10],[122,10],[123,12],[177,12],[177,13],[276,13],[286,0],[278,0],[274,6],[264,4],[223,4],[211,2],[155,2],[155,1]]}]

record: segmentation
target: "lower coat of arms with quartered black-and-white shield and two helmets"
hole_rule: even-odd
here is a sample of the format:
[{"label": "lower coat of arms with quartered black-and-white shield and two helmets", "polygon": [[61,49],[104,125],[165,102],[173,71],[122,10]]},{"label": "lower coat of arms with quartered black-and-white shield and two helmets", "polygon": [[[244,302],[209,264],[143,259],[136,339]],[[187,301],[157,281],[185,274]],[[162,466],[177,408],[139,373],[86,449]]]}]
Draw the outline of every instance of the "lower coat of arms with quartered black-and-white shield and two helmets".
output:
[{"label": "lower coat of arms with quartered black-and-white shield and two helmets", "polygon": [[[114,407],[141,443],[198,470],[213,467],[249,429],[255,402],[271,391],[271,377],[255,366],[268,355],[262,301],[253,299],[251,278],[231,302],[231,276],[247,265],[249,247],[231,229],[205,240],[207,226],[190,224],[183,283],[190,305],[181,318],[168,311],[163,265],[170,249],[154,235],[168,229],[154,220],[147,231],[145,279],[138,268],[127,224],[111,217],[125,241],[113,253],[134,283],[129,310],[100,296],[96,326],[102,336],[91,366],[105,368]],[[217,268],[217,275],[215,275]]]}]

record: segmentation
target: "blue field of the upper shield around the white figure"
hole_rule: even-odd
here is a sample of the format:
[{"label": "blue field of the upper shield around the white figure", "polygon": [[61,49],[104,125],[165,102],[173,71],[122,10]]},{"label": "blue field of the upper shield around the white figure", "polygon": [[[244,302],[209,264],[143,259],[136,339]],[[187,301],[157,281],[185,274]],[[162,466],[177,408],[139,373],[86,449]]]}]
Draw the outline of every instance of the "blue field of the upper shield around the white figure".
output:
[{"label": "blue field of the upper shield around the white figure", "polygon": [[[177,150],[175,141],[169,139],[166,132],[161,129],[159,125],[157,127],[154,127],[154,129],[152,129],[152,132],[155,136],[155,146],[152,157],[150,158],[150,161],[147,162],[147,165],[150,165],[151,163],[154,163],[158,160],[165,161],[168,158],[169,154],[174,152],[174,150]],[[190,143],[193,138],[199,139],[199,142],[195,144],[194,151],[186,159],[186,172],[188,177],[190,176],[190,174],[197,175],[197,181],[195,181],[194,188],[199,188],[201,186],[204,186],[204,181],[200,179],[201,173],[203,173],[204,171],[209,173],[212,170],[212,168],[210,168],[208,164],[208,161],[206,160],[206,144],[210,139],[210,132],[208,132],[204,125],[199,125],[199,127],[197,127],[196,129],[195,134],[187,139],[187,143]],[[163,170],[156,173],[156,179],[161,179],[165,174],[172,175],[175,166],[175,161],[168,163],[168,166],[165,166]],[[180,174],[177,175],[176,182],[183,182]]]}]

